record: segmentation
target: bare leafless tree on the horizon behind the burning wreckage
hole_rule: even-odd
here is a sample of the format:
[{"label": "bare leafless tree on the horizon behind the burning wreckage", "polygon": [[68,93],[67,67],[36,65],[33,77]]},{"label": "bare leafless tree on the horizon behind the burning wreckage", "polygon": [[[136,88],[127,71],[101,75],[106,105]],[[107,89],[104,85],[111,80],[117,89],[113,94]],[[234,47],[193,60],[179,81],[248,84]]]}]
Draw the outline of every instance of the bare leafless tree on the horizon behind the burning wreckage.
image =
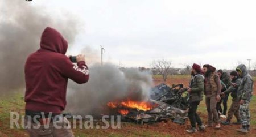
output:
[{"label": "bare leafless tree on the horizon behind the burning wreckage", "polygon": [[171,74],[171,60],[159,59],[152,62],[151,67],[157,74],[162,75],[166,82],[167,76]]}]

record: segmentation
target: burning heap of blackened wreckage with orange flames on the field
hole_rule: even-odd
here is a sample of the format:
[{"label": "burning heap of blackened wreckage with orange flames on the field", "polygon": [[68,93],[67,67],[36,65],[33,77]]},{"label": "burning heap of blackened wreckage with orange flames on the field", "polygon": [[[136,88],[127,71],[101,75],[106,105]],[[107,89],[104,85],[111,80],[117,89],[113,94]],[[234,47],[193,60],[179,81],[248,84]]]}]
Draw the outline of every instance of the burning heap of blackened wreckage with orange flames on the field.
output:
[{"label": "burning heap of blackened wreckage with orange flames on the field", "polygon": [[[184,124],[188,109],[188,94],[183,84],[160,84],[151,89],[151,100],[123,100],[108,102],[112,115],[121,114],[121,120],[134,123],[155,123],[172,119],[175,123]],[[184,94],[183,94],[184,93]]]}]

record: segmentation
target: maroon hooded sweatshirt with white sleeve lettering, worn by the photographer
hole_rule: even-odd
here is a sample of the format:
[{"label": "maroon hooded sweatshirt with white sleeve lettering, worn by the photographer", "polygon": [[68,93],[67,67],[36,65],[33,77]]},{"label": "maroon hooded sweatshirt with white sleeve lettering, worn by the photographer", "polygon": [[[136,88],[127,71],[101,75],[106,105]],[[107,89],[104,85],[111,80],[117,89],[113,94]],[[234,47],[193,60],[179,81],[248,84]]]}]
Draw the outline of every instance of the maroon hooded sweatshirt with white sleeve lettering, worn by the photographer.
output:
[{"label": "maroon hooded sweatshirt with white sleeve lettering, worn by the photographer", "polygon": [[73,65],[65,56],[67,48],[68,42],[59,32],[44,29],[40,49],[27,58],[25,65],[27,110],[60,114],[66,105],[68,78],[79,84],[88,82],[85,62]]}]

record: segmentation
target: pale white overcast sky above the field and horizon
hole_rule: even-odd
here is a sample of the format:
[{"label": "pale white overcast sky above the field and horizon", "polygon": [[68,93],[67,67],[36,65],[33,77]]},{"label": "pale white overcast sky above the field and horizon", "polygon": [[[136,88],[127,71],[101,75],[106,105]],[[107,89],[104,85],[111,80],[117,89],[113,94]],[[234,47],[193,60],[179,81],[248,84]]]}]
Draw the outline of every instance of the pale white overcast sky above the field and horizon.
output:
[{"label": "pale white overcast sky above the field and horizon", "polygon": [[105,61],[149,67],[171,59],[174,67],[210,63],[233,68],[256,61],[256,1],[63,1],[33,0],[55,14],[77,16],[84,25],[69,53],[84,46],[106,49]]}]

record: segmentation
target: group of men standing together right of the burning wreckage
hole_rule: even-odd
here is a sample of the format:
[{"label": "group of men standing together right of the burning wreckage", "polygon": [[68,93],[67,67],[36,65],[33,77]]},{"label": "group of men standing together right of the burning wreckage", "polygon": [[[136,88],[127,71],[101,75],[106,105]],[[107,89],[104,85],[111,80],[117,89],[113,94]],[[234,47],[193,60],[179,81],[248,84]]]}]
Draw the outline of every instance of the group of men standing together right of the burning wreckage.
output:
[{"label": "group of men standing together right of the burning wreckage", "polygon": [[[221,129],[221,123],[223,125],[231,124],[230,121],[233,115],[237,118],[237,122],[233,124],[242,125],[240,129],[237,129],[238,132],[246,134],[250,131],[249,103],[253,92],[253,79],[245,65],[238,65],[236,71],[230,72],[230,76],[228,76],[222,70],[216,72],[216,68],[209,64],[204,65],[203,69],[200,65],[193,64],[191,75],[192,78],[188,88],[188,117],[191,129],[188,129],[187,132],[197,132],[196,123],[201,131],[204,131],[206,127]],[[228,117],[221,122],[221,113],[224,117],[226,115],[229,94],[232,97],[232,104],[228,110]],[[208,113],[207,125],[203,125],[196,113],[197,106],[203,100],[203,95],[205,95],[205,105]],[[221,102],[224,105],[223,110]]]}]

